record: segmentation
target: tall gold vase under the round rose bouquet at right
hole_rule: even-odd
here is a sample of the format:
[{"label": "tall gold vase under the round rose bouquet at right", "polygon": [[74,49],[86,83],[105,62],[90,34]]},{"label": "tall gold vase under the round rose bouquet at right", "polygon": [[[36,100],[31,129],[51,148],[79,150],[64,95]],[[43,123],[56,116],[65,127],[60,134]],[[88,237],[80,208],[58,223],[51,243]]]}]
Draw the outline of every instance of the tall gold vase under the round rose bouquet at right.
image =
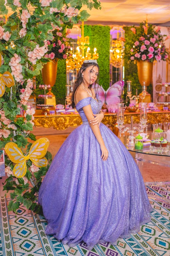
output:
[{"label": "tall gold vase under the round rose bouquet at right", "polygon": [[142,81],[146,81],[146,85],[149,86],[152,81],[153,62],[147,60],[137,60],[136,62],[140,85],[142,86]]}]

